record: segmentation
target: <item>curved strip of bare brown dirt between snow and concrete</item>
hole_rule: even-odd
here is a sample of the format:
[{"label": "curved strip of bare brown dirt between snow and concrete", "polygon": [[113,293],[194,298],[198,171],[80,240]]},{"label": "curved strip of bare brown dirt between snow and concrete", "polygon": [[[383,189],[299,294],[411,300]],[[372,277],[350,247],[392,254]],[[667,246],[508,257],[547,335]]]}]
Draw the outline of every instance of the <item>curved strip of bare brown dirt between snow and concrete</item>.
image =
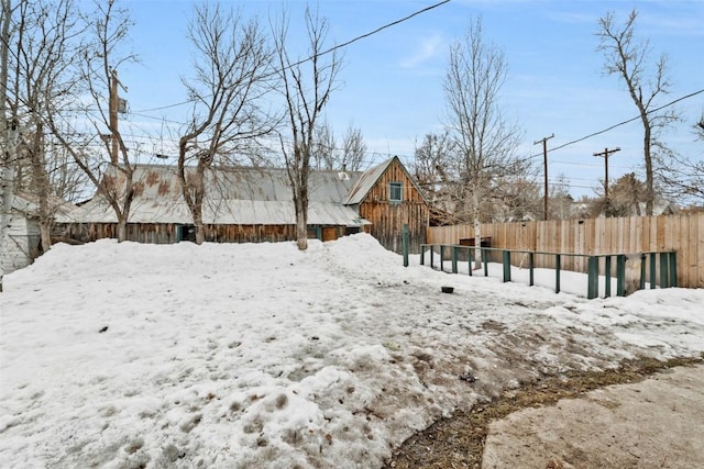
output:
[{"label": "curved strip of bare brown dirt between snow and concrete", "polygon": [[486,405],[473,407],[471,412],[458,411],[452,417],[436,422],[404,442],[385,468],[480,468],[490,424],[494,421],[526,407],[552,405],[561,399],[581,397],[607,386],[638,382],[668,368],[700,362],[702,358],[676,358],[668,361],[642,358],[624,361],[618,368],[606,371],[546,377],[520,389],[507,391]]}]

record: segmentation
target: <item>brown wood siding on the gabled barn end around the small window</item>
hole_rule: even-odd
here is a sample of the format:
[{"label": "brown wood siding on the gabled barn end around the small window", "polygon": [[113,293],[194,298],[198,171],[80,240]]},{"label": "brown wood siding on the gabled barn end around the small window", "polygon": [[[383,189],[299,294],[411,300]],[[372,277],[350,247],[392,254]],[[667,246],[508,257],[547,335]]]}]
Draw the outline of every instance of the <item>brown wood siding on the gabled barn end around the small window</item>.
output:
[{"label": "brown wood siding on the gabled barn end around the small window", "polygon": [[[389,182],[402,182],[403,200],[389,201]],[[394,160],[378,178],[360,204],[360,216],[372,222],[370,233],[385,248],[402,252],[402,226],[408,225],[409,248],[420,253],[426,242],[426,228],[430,211],[408,174],[398,160]]]}]

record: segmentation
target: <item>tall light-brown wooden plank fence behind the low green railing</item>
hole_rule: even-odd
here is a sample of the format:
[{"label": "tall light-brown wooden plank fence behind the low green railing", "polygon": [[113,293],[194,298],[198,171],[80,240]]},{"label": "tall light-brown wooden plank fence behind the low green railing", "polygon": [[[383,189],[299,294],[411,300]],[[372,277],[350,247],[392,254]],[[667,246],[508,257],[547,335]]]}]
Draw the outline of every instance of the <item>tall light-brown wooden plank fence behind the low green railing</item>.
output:
[{"label": "tall light-brown wooden plank fence behind the low green railing", "polygon": [[[704,288],[704,213],[483,224],[481,234],[491,238],[492,247],[503,249],[581,255],[674,250],[678,287]],[[427,232],[428,244],[460,244],[473,237],[473,225],[431,226]],[[554,256],[537,255],[535,261],[536,267],[554,268]],[[566,258],[562,268],[586,272],[586,258]]]}]

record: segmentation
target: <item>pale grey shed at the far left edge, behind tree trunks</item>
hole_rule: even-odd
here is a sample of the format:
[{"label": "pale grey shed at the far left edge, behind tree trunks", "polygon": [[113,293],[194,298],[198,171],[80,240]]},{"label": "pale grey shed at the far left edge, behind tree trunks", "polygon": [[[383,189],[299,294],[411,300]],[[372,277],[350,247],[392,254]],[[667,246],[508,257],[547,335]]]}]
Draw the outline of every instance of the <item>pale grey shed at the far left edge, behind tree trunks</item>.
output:
[{"label": "pale grey shed at the far left edge, behind tree trunks", "polygon": [[[12,198],[4,273],[29,266],[41,254],[38,205],[37,196],[30,192],[22,191]],[[55,197],[51,198],[50,205],[59,215],[68,214],[75,209]]]}]

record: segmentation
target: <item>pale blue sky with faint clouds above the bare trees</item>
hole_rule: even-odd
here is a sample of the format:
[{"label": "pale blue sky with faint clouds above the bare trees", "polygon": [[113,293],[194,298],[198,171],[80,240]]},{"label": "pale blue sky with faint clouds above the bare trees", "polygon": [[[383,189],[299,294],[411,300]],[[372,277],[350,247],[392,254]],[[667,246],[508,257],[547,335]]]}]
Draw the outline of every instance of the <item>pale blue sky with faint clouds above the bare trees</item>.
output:
[{"label": "pale blue sky with faint clouds above the bare trees", "polygon": [[[223,1],[241,8],[244,15],[258,14],[266,23],[284,4],[280,1]],[[302,20],[304,1],[285,2],[292,31]],[[320,13],[330,22],[330,44],[343,43],[396,21],[437,1],[321,0]],[[132,114],[125,116],[131,138],[144,154],[163,153],[164,142],[154,138],[172,122],[186,122],[187,105],[180,77],[188,76],[191,48],[186,38],[190,1],[128,0],[135,25],[131,47],[138,65],[120,69],[129,87],[124,94]],[[439,132],[446,120],[442,81],[449,46],[470,22],[481,15],[485,40],[506,55],[508,78],[503,89],[507,118],[524,131],[522,156],[536,155],[542,167],[541,147],[553,148],[637,115],[622,81],[603,74],[603,56],[596,51],[597,21],[612,11],[618,23],[630,10],[639,12],[638,38],[649,41],[654,62],[660,53],[670,59],[671,94],[664,104],[704,89],[704,1],[552,1],[552,0],[451,0],[409,21],[345,47],[344,68],[326,111],[338,141],[349,125],[359,127],[369,148],[369,164],[399,155],[409,161],[415,143],[426,133]],[[302,55],[302,53],[301,53]],[[685,120],[664,139],[690,157],[703,156],[692,124],[704,111],[704,93],[675,108]],[[128,129],[123,125],[123,129]],[[164,132],[166,133],[166,132]],[[549,176],[564,175],[573,196],[593,194],[604,176],[604,160],[594,157],[605,147],[620,147],[609,157],[609,179],[641,166],[642,131],[638,122],[565,146],[549,154]],[[151,148],[150,148],[151,146]],[[541,176],[540,176],[541,178]],[[541,179],[540,179],[541,180]]]}]

